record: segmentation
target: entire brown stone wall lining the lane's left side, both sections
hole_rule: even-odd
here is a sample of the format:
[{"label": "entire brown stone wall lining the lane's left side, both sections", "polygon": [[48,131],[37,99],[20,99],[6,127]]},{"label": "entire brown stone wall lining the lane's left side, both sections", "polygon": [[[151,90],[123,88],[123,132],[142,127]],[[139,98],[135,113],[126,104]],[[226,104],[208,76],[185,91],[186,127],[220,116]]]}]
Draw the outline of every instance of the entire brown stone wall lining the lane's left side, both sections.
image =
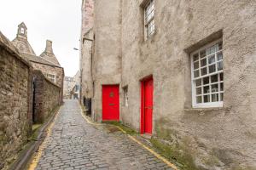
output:
[{"label": "entire brown stone wall lining the lane's left side, both sections", "polygon": [[[62,103],[61,87],[21,57],[0,31],[0,169],[7,168],[27,143],[32,121],[45,118]],[[35,93],[33,92],[33,82]],[[33,98],[33,94],[35,94]],[[35,99],[33,101],[33,99]],[[35,107],[33,108],[33,105]]]}]

